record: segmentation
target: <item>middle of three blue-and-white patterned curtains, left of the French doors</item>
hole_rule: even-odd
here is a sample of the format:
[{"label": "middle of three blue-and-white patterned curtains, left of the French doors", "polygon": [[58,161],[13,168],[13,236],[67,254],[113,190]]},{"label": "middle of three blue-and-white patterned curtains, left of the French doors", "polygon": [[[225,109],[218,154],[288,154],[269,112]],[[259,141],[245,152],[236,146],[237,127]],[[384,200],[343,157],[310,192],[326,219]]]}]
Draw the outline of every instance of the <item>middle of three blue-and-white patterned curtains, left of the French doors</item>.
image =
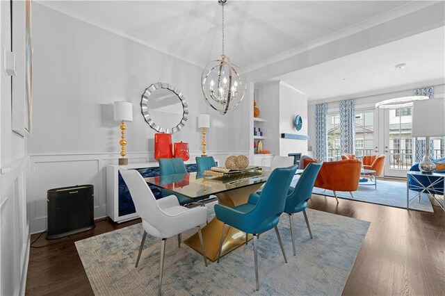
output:
[{"label": "middle of three blue-and-white patterned curtains, left of the French doors", "polygon": [[355,101],[340,102],[340,154],[355,154]]}]

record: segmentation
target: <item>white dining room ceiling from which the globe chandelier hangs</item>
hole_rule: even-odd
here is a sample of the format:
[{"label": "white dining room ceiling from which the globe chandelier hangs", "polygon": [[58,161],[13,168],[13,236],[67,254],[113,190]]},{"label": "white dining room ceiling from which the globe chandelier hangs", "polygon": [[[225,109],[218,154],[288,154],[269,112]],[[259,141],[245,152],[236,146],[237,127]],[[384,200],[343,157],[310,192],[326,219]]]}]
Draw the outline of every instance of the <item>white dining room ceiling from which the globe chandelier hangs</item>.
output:
[{"label": "white dining room ceiling from which the globe chandelier hangs", "polygon": [[[221,54],[213,1],[38,1],[203,67]],[[225,6],[225,49],[245,72],[270,58],[339,39],[433,1],[236,1]]]}]

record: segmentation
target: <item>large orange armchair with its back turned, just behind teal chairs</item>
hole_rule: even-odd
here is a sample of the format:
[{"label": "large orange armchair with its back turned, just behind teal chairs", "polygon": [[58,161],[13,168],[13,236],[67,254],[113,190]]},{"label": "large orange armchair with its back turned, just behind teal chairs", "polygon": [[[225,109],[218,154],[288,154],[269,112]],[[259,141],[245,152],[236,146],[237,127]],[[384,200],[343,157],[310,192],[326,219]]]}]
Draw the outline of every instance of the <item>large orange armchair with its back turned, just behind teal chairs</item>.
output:
[{"label": "large orange armchair with its back turned, just behind teal chairs", "polygon": [[[305,159],[305,165],[311,163]],[[349,159],[346,161],[325,161],[321,166],[315,180],[315,186],[334,192],[334,197],[337,199],[337,191],[349,191],[353,197],[353,191],[359,187],[360,171],[362,170],[362,163],[356,159]]]}]

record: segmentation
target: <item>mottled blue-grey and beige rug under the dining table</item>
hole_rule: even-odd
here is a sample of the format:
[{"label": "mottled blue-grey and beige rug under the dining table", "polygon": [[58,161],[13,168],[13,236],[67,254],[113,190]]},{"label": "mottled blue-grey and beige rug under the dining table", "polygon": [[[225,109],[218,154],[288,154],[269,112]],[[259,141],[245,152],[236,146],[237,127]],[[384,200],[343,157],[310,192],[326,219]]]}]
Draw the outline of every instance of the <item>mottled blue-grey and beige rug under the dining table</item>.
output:
[{"label": "mottled blue-grey and beige rug under the dining table", "polygon": [[[202,256],[168,239],[163,295],[341,295],[369,222],[307,210],[314,239],[301,213],[295,215],[297,256],[292,254],[289,219],[279,229],[289,263],[284,263],[275,231],[259,238],[259,282],[255,291],[253,245],[243,245],[205,268]],[[209,205],[209,217],[213,217]],[[183,239],[195,231],[183,233]],[[147,236],[138,268],[134,267],[143,235],[141,224],[76,242],[95,295],[155,295],[159,281],[160,242]]]}]

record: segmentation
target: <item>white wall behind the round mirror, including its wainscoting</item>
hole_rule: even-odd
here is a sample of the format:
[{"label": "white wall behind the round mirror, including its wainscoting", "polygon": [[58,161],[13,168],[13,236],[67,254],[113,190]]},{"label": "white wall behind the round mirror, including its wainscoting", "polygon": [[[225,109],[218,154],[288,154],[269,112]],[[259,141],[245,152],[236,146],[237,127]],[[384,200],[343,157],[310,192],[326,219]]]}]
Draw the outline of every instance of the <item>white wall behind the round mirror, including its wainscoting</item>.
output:
[{"label": "white wall behind the round mirror, including its wainscoting", "polygon": [[95,217],[106,215],[105,170],[117,163],[119,123],[113,101],[133,103],[127,123],[130,163],[152,158],[155,131],[145,122],[140,99],[152,83],[176,85],[188,101],[188,122],[173,140],[188,142],[200,155],[197,115],[209,113],[207,154],[224,161],[229,154],[248,154],[243,138],[243,108],[220,115],[202,99],[202,69],[178,58],[59,13],[38,3],[33,9],[33,136],[29,205],[31,232],[46,229],[46,191],[92,183]]}]

